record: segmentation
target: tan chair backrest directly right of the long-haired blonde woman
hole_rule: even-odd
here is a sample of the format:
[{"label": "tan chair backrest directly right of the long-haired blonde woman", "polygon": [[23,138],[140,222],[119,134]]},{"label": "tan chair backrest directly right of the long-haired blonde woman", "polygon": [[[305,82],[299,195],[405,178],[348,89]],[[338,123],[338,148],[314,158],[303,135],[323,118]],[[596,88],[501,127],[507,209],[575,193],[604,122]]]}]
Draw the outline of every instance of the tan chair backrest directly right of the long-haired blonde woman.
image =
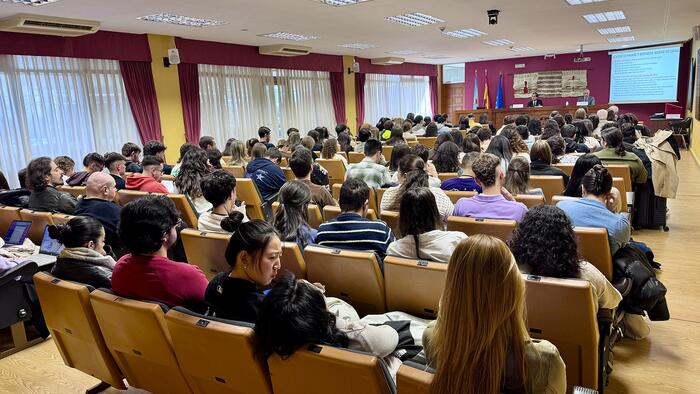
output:
[{"label": "tan chair backrest directly right of the long-haired blonde woman", "polygon": [[567,385],[597,389],[599,333],[591,284],[523,276],[530,336],[557,347],[566,364]]}]

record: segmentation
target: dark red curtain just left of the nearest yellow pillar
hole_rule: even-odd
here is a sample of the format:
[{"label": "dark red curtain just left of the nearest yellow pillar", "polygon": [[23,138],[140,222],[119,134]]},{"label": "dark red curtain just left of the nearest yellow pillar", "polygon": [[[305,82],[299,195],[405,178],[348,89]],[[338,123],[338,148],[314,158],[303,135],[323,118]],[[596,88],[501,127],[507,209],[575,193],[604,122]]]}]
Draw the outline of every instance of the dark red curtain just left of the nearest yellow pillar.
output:
[{"label": "dark red curtain just left of the nearest yellow pillar", "polygon": [[141,142],[162,140],[158,99],[150,62],[120,61],[122,79]]}]

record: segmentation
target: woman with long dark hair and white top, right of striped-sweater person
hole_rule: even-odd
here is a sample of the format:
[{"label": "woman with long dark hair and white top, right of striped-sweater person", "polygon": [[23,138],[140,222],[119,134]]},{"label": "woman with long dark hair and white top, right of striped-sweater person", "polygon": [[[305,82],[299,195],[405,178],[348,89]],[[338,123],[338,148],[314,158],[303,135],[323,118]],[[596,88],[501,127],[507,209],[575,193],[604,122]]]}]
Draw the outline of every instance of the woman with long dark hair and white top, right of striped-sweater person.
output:
[{"label": "woman with long dark hair and white top, right of striped-sweater person", "polygon": [[399,231],[403,238],[389,244],[387,255],[447,263],[467,236],[443,231],[435,196],[427,187],[406,191],[401,198]]}]

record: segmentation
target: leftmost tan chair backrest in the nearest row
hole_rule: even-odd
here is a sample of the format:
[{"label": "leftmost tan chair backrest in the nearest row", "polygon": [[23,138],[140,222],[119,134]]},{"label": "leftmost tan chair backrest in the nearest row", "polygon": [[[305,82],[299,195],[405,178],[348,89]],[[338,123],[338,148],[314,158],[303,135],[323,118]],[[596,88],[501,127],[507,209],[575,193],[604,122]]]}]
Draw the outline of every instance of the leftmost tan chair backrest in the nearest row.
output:
[{"label": "leftmost tan chair backrest in the nearest row", "polygon": [[124,378],[97,324],[89,288],[46,272],[34,274],[34,286],[63,362],[114,388],[126,390]]}]

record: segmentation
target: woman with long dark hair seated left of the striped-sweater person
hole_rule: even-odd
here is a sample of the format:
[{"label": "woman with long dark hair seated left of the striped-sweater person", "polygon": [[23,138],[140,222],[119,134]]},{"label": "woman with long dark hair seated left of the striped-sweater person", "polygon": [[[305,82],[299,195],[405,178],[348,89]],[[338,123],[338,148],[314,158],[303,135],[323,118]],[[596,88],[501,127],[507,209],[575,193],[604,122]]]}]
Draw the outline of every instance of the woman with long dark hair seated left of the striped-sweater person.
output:
[{"label": "woman with long dark hair seated left of the striped-sweater person", "polygon": [[311,191],[299,181],[289,181],[282,186],[277,212],[272,225],[285,242],[296,242],[300,249],[316,239],[316,230],[309,227],[309,203]]}]

